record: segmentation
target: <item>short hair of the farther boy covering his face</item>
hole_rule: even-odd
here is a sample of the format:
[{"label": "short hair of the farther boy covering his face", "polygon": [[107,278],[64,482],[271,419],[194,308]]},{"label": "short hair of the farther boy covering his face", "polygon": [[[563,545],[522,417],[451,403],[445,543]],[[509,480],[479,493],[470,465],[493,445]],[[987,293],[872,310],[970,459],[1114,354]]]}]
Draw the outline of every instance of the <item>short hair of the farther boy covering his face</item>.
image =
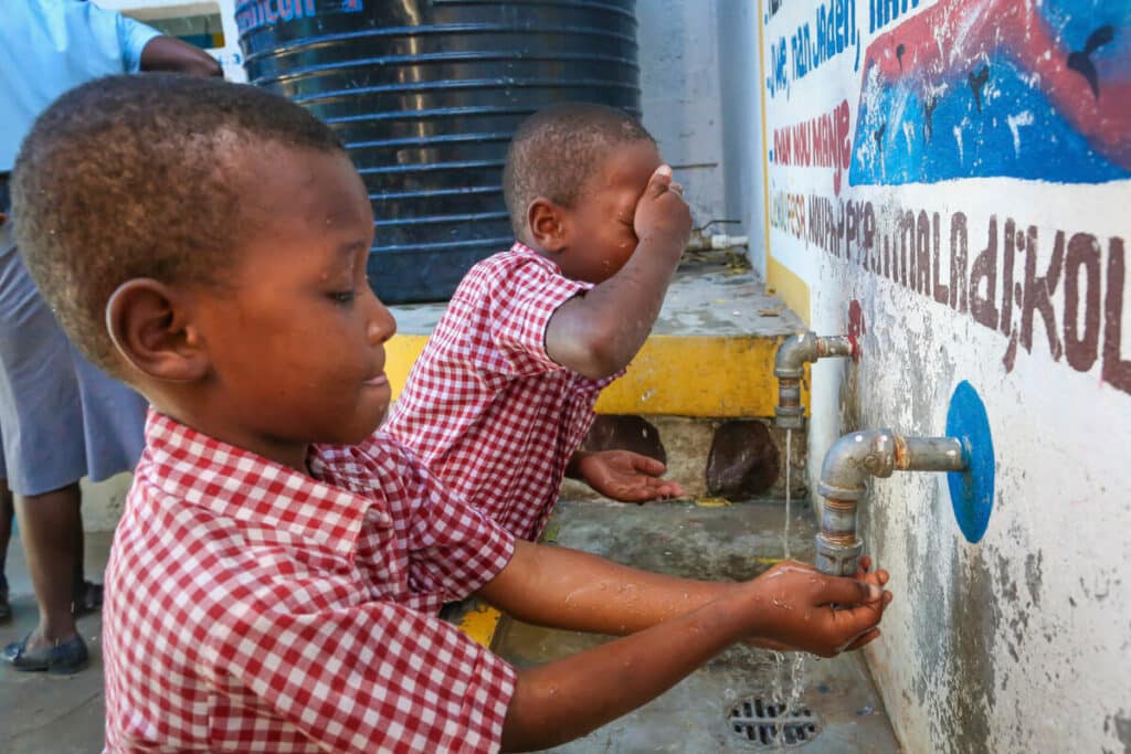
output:
[{"label": "short hair of the farther boy covering his face", "polygon": [[619,146],[651,135],[632,115],[604,105],[564,103],[523,121],[507,150],[502,191],[519,241],[529,242],[526,210],[538,197],[571,207],[586,181]]}]

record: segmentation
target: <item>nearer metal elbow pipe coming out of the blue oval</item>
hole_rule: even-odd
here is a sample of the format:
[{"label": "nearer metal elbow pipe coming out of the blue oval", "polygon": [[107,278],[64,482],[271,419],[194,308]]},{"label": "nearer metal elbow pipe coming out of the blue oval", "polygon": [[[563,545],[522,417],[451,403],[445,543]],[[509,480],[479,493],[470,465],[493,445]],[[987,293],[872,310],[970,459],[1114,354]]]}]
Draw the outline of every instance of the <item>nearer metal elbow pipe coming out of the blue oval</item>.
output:
[{"label": "nearer metal elbow pipe coming out of the blue oval", "polygon": [[969,451],[957,437],[905,437],[891,430],[853,432],[832,443],[821,465],[817,492],[824,497],[817,535],[817,567],[852,575],[864,543],[856,531],[856,508],[867,477],[892,471],[962,471]]}]

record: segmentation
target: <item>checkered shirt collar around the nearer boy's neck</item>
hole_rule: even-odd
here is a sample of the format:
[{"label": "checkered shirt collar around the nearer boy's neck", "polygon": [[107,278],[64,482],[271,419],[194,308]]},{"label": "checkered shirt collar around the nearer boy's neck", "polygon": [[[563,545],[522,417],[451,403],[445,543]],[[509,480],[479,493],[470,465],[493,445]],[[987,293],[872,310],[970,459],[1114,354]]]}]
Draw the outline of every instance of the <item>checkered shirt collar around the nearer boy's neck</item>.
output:
[{"label": "checkered shirt collar around the nearer boy's neck", "polygon": [[[371,495],[325,484],[209,437],[154,409],[146,418],[145,434],[139,475],[144,474],[147,460],[157,469],[155,474],[144,474],[147,483],[175,500],[243,526],[287,530],[349,558],[366,513],[373,512],[370,522],[378,527],[392,526],[392,519]],[[342,453],[336,450],[312,445],[312,473],[321,474],[331,466],[338,471],[335,457]]]}]

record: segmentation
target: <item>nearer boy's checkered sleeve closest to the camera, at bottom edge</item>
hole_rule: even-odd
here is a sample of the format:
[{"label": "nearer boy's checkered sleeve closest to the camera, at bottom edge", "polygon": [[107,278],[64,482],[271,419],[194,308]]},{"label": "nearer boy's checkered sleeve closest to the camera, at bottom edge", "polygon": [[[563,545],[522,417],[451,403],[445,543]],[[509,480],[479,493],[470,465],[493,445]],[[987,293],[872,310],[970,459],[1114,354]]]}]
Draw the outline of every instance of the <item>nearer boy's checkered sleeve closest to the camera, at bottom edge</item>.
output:
[{"label": "nearer boy's checkered sleeve closest to the camera, at bottom edge", "polygon": [[269,597],[210,630],[226,695],[234,682],[325,751],[499,749],[517,674],[458,629],[391,603],[301,613]]}]

